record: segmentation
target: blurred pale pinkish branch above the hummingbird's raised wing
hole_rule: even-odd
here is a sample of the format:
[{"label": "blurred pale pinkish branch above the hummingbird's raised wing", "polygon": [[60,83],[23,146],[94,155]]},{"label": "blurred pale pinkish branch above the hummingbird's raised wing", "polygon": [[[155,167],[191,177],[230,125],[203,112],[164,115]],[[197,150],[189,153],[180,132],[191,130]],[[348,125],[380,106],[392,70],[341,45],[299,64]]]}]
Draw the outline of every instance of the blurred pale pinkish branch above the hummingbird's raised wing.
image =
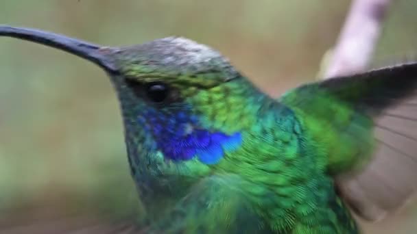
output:
[{"label": "blurred pale pinkish branch above the hummingbird's raised wing", "polygon": [[354,0],[322,79],[366,70],[392,0]]}]

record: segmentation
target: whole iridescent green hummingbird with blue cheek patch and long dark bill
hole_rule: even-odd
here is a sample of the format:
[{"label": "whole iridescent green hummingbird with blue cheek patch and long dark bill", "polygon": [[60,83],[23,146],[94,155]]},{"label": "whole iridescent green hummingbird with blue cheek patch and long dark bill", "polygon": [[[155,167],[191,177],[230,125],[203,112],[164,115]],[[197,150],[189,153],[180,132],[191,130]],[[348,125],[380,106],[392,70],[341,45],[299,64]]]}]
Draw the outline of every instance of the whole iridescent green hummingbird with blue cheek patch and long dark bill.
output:
[{"label": "whole iridescent green hummingbird with blue cheek patch and long dark bill", "polygon": [[8,25],[0,36],[110,77],[147,233],[361,233],[354,213],[381,220],[416,190],[416,62],[273,98],[187,38],[104,47]]}]

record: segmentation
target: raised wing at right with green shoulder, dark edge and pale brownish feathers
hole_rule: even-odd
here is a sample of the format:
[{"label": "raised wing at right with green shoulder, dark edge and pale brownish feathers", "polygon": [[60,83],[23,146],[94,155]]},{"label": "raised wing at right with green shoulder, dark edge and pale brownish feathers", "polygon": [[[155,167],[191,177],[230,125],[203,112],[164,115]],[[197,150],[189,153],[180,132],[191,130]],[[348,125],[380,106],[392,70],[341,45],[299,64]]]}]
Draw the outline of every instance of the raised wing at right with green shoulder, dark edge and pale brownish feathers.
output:
[{"label": "raised wing at right with green shoulder, dark edge and pale brownish feathers", "polygon": [[280,101],[295,109],[309,125],[307,133],[325,146],[329,173],[359,216],[379,220],[412,197],[417,188],[416,63],[310,83]]}]

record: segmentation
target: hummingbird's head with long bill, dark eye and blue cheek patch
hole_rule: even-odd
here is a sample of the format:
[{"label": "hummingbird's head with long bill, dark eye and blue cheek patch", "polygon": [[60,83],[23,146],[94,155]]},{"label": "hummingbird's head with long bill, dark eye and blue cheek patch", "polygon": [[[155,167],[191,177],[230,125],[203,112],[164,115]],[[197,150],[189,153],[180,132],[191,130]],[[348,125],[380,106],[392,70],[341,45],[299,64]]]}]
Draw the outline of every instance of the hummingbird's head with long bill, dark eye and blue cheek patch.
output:
[{"label": "hummingbird's head with long bill, dark eye and blue cheek patch", "polygon": [[102,47],[8,26],[0,36],[55,47],[106,70],[121,103],[133,174],[207,172],[241,146],[265,97],[217,51],[185,38]]}]

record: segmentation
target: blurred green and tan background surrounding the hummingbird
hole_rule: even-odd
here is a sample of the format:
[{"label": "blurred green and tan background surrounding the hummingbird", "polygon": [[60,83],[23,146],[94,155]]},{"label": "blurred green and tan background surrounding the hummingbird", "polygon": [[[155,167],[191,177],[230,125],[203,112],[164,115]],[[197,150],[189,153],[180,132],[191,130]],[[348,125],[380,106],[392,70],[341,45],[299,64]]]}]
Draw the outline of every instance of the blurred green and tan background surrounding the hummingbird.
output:
[{"label": "blurred green and tan background surrounding the hummingbird", "polygon": [[[346,0],[3,0],[0,23],[112,46],[184,36],[222,51],[278,95],[315,79],[349,6]],[[374,64],[416,54],[416,10],[415,0],[394,1]],[[20,40],[0,38],[0,51],[0,226],[87,212],[140,217],[119,107],[104,72]],[[366,231],[414,233],[414,210],[365,224]]]}]

